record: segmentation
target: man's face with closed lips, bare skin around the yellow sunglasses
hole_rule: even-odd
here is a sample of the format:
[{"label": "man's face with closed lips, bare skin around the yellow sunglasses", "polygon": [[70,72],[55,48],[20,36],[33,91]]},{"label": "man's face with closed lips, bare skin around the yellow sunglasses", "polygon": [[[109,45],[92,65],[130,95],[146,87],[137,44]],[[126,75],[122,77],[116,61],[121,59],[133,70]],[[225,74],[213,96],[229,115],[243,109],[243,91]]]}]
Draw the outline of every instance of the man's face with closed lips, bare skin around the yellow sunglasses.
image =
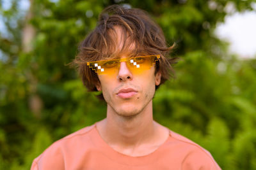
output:
[{"label": "man's face with closed lips, bare skin around the yellow sunglasses", "polygon": [[[116,28],[118,44],[122,44],[122,30]],[[131,47],[134,48],[134,46]],[[122,54],[120,58],[127,55]],[[132,116],[140,113],[149,106],[154,97],[156,85],[160,84],[161,73],[155,74],[155,66],[143,71],[140,74],[134,74],[127,67],[125,62],[120,62],[120,68],[114,75],[99,75],[100,84],[98,90],[102,94],[109,111],[118,115]]]}]

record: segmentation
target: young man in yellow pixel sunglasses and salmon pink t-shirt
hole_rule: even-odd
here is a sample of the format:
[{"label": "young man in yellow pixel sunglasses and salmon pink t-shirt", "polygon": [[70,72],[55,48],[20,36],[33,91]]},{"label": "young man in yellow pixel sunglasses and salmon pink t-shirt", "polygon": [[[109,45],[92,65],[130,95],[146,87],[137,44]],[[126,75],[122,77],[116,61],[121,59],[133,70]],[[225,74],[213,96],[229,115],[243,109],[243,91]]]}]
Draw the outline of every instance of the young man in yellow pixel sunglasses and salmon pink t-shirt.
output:
[{"label": "young man in yellow pixel sunglasses and salmon pink t-shirt", "polygon": [[220,169],[211,154],[153,120],[152,98],[172,60],[161,28],[138,9],[109,6],[74,61],[102,91],[104,120],[56,141],[31,169]]}]

